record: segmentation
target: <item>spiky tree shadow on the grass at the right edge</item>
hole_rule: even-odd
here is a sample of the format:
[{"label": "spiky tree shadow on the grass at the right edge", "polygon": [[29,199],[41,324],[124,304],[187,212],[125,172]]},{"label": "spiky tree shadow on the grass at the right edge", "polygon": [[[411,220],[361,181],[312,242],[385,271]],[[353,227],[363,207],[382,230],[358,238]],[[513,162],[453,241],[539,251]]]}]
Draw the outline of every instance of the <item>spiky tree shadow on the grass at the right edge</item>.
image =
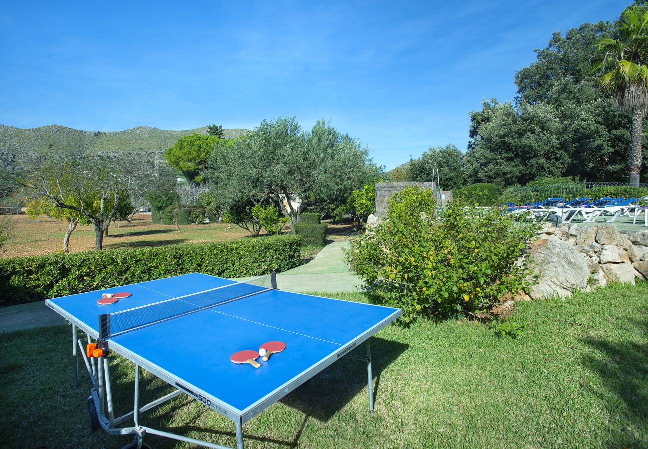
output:
[{"label": "spiky tree shadow on the grass at the right edge", "polygon": [[[648,339],[648,319],[629,319]],[[608,414],[619,421],[613,441],[602,442],[601,447],[646,447],[648,443],[648,344],[636,341],[610,341],[601,337],[581,339],[594,350],[583,355],[583,366],[601,379]],[[618,402],[613,398],[617,398]],[[634,430],[634,431],[633,431]]]}]

